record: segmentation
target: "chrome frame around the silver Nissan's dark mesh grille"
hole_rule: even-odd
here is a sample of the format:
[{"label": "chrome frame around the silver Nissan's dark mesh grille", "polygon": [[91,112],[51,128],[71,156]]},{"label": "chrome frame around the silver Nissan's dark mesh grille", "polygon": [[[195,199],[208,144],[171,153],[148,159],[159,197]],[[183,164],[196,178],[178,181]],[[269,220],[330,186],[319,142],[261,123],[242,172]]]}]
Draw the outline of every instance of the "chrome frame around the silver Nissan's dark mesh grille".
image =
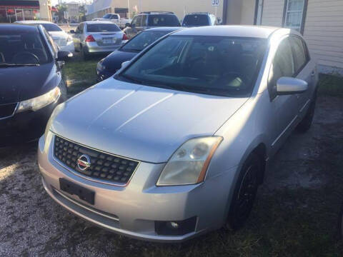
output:
[{"label": "chrome frame around the silver Nissan's dark mesh grille", "polygon": [[[52,133],[54,133],[54,132],[52,132]],[[59,163],[59,165],[62,166],[63,168],[65,168],[67,171],[70,171],[70,172],[73,173],[74,175],[79,176],[79,177],[81,177],[81,178],[85,178],[85,179],[87,179],[87,180],[89,180],[89,181],[93,181],[93,182],[96,182],[96,183],[102,183],[102,184],[106,184],[106,185],[110,185],[110,186],[126,187],[126,186],[129,185],[129,183],[130,183],[130,181],[131,181],[131,178],[134,176],[134,173],[136,173],[136,170],[137,170],[137,168],[139,167],[139,164],[141,163],[141,161],[137,161],[137,160],[134,160],[134,159],[132,159],[132,158],[126,158],[126,157],[119,156],[119,155],[116,155],[116,154],[113,154],[113,153],[107,153],[106,151],[101,151],[101,150],[98,150],[98,149],[96,149],[96,148],[92,148],[92,147],[89,147],[89,146],[85,146],[85,145],[82,144],[82,143],[77,143],[79,146],[84,146],[84,147],[89,148],[89,149],[91,149],[91,150],[99,151],[100,153],[106,153],[106,154],[109,154],[110,156],[115,156],[115,157],[119,157],[119,158],[124,158],[124,159],[126,159],[126,160],[129,160],[129,161],[136,161],[136,162],[138,163],[137,166],[136,166],[136,168],[135,168],[134,171],[132,172],[132,174],[131,174],[129,180],[128,180],[126,183],[114,183],[114,182],[104,181],[104,180],[102,180],[102,179],[91,178],[91,177],[85,176],[84,174],[81,174],[81,173],[79,173],[79,172],[77,172],[77,171],[74,171],[74,169],[72,169],[72,168],[66,166],[64,163],[62,163],[61,161],[59,161],[58,158],[55,157],[54,145],[55,145],[55,137],[56,137],[56,136],[59,136],[60,138],[64,138],[64,140],[69,141],[69,142],[71,142],[71,143],[77,143],[77,142],[72,141],[72,140],[70,140],[70,139],[68,139],[68,138],[65,138],[65,137],[63,137],[63,136],[60,136],[59,134],[54,133],[54,136],[53,136],[52,139],[51,139],[51,140],[52,140],[52,144],[51,144],[51,145],[52,145],[52,158],[54,159],[54,161],[56,161],[56,163]]]}]

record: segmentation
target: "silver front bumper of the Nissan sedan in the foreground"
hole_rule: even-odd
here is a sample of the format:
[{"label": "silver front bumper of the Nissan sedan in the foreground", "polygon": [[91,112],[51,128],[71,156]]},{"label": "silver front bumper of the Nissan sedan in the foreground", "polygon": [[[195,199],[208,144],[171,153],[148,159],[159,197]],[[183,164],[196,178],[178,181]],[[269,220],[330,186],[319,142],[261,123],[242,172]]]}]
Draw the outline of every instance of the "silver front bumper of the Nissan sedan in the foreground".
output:
[{"label": "silver front bumper of the Nissan sedan in the foreground", "polygon": [[[146,241],[184,241],[220,228],[227,213],[228,181],[234,171],[221,173],[205,183],[190,186],[155,186],[164,163],[141,162],[126,187],[91,181],[77,176],[54,159],[53,133],[47,143],[39,140],[39,168],[44,188],[57,203],[77,216],[116,233]],[[91,205],[61,191],[65,178],[95,192]],[[183,236],[156,233],[155,221],[184,221],[197,217],[194,231]]]}]

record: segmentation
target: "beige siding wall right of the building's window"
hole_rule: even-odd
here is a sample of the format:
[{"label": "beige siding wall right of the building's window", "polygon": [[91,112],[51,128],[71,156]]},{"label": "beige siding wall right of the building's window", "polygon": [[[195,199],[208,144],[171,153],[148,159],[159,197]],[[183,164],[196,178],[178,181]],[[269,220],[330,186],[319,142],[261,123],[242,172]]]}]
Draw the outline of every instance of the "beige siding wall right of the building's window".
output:
[{"label": "beige siding wall right of the building's window", "polygon": [[343,68],[343,1],[309,0],[304,38],[323,71]]}]

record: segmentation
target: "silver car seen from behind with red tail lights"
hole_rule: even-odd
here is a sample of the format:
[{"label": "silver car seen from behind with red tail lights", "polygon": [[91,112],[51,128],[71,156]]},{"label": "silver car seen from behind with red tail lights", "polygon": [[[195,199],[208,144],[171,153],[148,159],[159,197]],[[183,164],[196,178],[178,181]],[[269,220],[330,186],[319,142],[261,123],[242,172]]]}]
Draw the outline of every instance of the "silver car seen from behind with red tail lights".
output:
[{"label": "silver car seen from behind with red tail lights", "polygon": [[81,51],[84,59],[91,54],[106,54],[118,49],[126,43],[126,35],[119,26],[111,21],[81,22],[74,34],[75,51]]}]

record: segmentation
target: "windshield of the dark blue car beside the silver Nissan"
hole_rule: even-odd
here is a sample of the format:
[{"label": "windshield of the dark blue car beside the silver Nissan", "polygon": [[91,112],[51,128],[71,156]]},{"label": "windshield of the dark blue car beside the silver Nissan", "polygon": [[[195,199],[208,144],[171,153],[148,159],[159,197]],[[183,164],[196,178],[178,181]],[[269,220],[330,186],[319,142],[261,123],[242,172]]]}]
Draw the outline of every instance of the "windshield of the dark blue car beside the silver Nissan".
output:
[{"label": "windshield of the dark blue car beside the silver Nissan", "polygon": [[127,42],[121,50],[125,51],[141,51],[152,42],[159,39],[161,36],[168,34],[169,31],[144,31],[138,34],[129,42]]}]

